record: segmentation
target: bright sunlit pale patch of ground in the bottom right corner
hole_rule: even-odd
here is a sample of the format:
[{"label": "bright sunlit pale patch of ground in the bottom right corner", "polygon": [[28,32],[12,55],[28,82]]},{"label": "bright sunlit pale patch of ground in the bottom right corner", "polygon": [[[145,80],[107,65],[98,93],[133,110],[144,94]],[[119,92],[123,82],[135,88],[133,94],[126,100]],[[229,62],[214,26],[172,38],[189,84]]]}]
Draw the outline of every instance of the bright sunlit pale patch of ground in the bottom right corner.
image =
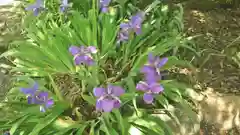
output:
[{"label": "bright sunlit pale patch of ground in the bottom right corner", "polygon": [[[212,88],[208,88],[203,94],[205,97],[198,101],[198,112],[203,123],[214,125],[211,128],[222,133],[232,132],[230,131],[232,129],[240,129],[239,96],[219,94],[214,92]],[[239,133],[237,130],[235,132]]]}]

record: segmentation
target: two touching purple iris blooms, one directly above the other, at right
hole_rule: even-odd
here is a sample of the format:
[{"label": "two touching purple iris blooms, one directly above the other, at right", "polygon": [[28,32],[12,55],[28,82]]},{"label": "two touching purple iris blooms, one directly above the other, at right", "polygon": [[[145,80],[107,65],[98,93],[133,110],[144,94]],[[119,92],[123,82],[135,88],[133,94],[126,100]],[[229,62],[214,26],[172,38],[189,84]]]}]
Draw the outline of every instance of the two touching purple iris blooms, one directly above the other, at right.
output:
[{"label": "two touching purple iris blooms, one directly above the other, at right", "polygon": [[160,59],[150,53],[148,55],[148,63],[141,69],[141,72],[144,73],[144,81],[140,81],[136,89],[144,92],[143,100],[147,104],[151,104],[154,100],[154,95],[164,90],[163,86],[159,84],[159,80],[161,80],[160,68],[167,61],[167,58]]}]

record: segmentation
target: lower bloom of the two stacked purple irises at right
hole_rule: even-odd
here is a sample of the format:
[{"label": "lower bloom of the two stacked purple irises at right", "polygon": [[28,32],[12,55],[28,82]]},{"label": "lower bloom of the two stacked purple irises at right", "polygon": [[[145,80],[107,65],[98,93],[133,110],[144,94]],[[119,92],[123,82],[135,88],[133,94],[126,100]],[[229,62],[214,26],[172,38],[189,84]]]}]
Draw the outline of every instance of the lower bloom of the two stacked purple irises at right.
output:
[{"label": "lower bloom of the two stacked purple irises at right", "polygon": [[151,104],[153,102],[155,94],[159,94],[164,90],[162,85],[160,85],[159,83],[156,83],[156,82],[150,83],[150,82],[143,82],[143,81],[140,81],[137,84],[136,89],[145,92],[143,95],[143,100],[147,104]]}]

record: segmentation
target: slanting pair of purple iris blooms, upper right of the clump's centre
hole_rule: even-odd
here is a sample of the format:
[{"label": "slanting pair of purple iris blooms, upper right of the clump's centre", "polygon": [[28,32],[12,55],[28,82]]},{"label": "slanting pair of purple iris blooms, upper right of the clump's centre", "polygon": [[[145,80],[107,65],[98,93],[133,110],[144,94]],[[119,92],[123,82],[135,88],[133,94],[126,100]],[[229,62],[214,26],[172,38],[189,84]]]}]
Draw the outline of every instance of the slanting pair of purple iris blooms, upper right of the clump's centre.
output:
[{"label": "slanting pair of purple iris blooms, upper right of the clump's centre", "polygon": [[137,35],[142,33],[142,22],[144,20],[144,12],[138,12],[136,15],[130,18],[128,23],[121,23],[120,30],[118,32],[118,43],[127,41],[130,32],[134,32]]}]

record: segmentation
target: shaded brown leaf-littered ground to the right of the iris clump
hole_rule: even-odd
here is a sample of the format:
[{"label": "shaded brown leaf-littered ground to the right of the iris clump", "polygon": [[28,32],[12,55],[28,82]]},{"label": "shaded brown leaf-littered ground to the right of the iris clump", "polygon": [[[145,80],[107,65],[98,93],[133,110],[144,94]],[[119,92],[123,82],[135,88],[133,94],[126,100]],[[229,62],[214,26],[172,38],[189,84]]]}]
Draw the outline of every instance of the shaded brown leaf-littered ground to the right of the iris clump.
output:
[{"label": "shaded brown leaf-littered ground to the right of the iris clump", "polygon": [[200,35],[196,45],[202,51],[198,59],[200,81],[219,92],[239,94],[240,68],[232,57],[240,51],[240,10],[185,10],[188,35]]}]

